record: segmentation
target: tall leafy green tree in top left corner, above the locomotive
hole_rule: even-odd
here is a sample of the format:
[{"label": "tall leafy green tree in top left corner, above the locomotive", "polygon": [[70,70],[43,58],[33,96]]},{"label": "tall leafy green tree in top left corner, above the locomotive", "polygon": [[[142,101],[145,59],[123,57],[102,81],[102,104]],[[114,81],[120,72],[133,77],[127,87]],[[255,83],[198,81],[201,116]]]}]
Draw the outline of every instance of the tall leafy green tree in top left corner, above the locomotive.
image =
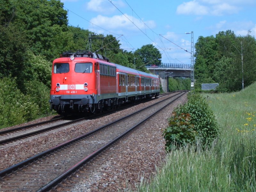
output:
[{"label": "tall leafy green tree in top left corner, above the locomotive", "polygon": [[[15,31],[24,33],[30,49],[36,55],[45,55],[53,60],[64,41],[57,41],[67,31],[67,11],[57,0],[0,0],[5,5],[1,10],[1,25],[13,25]],[[54,42],[54,43],[53,43]]]}]

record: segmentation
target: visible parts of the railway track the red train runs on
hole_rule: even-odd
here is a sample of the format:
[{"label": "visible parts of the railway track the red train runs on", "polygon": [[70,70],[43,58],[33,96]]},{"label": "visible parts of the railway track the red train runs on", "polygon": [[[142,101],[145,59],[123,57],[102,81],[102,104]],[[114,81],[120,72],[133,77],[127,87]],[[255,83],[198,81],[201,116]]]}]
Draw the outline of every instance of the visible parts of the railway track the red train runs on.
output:
[{"label": "visible parts of the railway track the red train runs on", "polygon": [[[164,93],[164,94],[159,95],[158,97],[160,98],[160,97],[172,94],[172,93],[173,92]],[[127,108],[127,106],[124,106],[123,108]],[[119,110],[123,109],[123,108],[119,108]],[[108,113],[104,113],[104,114],[100,114],[100,115],[106,115]],[[72,124],[72,123],[82,121],[85,119],[89,119],[92,117],[93,116],[88,116],[87,118],[83,117],[83,118],[78,118],[75,120],[67,119],[64,117],[59,117],[59,118],[51,119],[48,121],[39,122],[36,124],[30,124],[30,125],[13,128],[13,129],[3,130],[3,131],[0,131],[0,144],[3,145],[6,143],[10,143],[10,142],[18,140],[18,139],[27,138],[32,135],[39,134],[41,132],[46,132],[46,131],[56,129],[56,128],[64,126],[64,125]]]}]

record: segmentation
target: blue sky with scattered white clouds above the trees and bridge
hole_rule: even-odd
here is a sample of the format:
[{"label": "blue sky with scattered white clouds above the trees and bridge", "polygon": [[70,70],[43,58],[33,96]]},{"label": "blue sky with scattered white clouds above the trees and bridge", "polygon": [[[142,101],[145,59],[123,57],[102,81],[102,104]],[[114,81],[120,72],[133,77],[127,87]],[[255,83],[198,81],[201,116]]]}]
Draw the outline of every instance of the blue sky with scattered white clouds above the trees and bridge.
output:
[{"label": "blue sky with scattered white clouds above the trees and bridge", "polygon": [[[232,30],[256,37],[256,0],[61,0],[70,25],[111,34],[121,48],[153,44],[163,63],[191,62],[191,34],[215,36]],[[187,50],[187,52],[185,51]],[[194,50],[195,51],[195,50]],[[154,64],[153,62],[151,64]]]}]

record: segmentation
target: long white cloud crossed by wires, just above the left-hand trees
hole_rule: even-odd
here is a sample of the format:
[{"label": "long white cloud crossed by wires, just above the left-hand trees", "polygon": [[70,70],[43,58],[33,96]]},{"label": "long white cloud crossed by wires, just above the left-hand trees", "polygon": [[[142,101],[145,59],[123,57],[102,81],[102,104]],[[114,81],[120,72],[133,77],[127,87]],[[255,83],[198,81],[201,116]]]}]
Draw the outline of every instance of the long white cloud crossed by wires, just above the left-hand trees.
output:
[{"label": "long white cloud crossed by wires, just above the left-hand trees", "polygon": [[[129,18],[129,19],[128,19]],[[138,31],[139,29],[131,22],[131,21],[138,26],[142,31],[145,32],[145,24],[130,15],[124,14],[124,15],[114,15],[113,17],[106,17],[102,15],[98,15],[95,18],[92,18],[90,21],[98,25],[102,28],[108,29],[108,30],[129,30],[129,31]],[[155,28],[156,23],[153,20],[144,21],[149,28]],[[147,28],[146,28],[147,29]]]}]

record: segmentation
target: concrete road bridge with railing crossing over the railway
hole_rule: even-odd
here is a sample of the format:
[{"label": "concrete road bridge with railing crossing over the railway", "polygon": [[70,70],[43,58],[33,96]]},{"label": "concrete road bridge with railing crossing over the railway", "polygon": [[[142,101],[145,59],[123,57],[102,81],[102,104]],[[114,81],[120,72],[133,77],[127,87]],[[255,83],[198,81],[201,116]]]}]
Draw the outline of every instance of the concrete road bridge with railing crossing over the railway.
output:
[{"label": "concrete road bridge with railing crossing over the railway", "polygon": [[169,77],[191,77],[191,65],[183,63],[161,63],[146,65],[153,74],[159,75],[164,92],[169,91]]}]

